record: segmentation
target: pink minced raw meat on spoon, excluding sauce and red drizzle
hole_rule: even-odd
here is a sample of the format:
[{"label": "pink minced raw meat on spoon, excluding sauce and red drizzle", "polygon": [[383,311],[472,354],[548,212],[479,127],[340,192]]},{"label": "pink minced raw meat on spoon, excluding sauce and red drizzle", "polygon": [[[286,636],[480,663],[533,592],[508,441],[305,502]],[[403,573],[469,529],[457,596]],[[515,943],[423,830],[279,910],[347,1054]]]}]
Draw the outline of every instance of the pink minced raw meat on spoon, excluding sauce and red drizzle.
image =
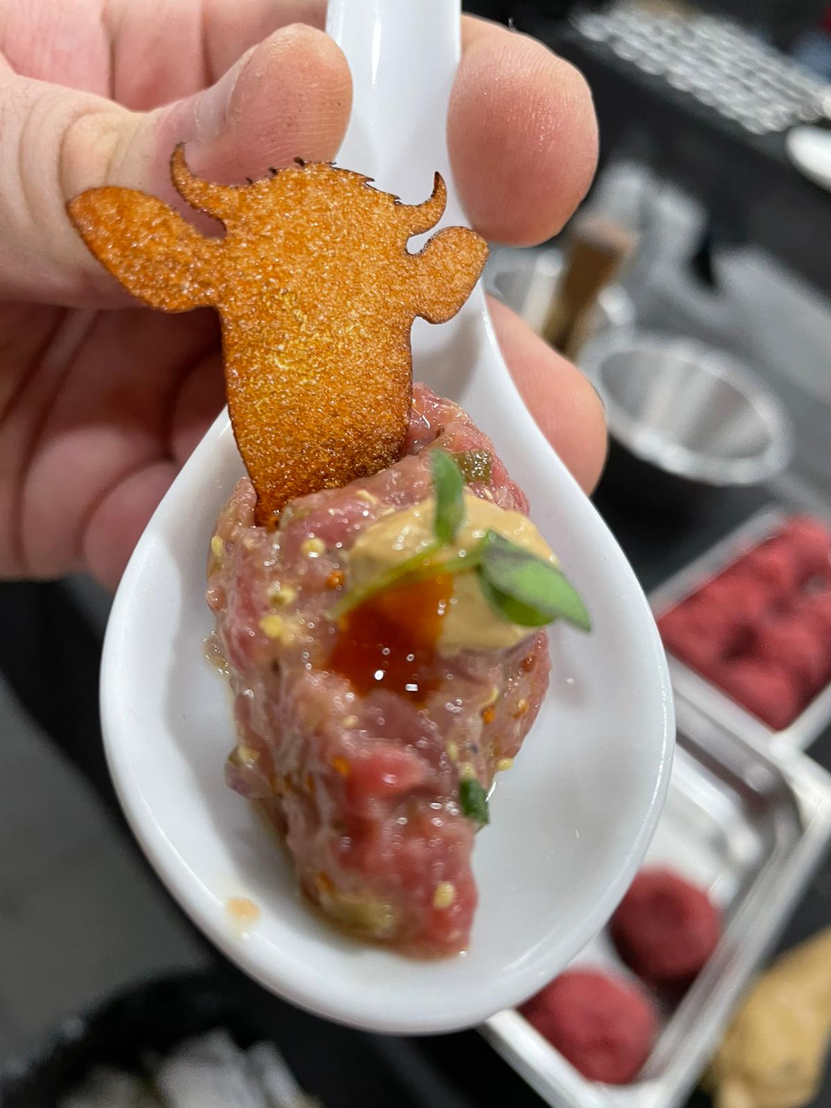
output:
[{"label": "pink minced raw meat on spoon, excluding sauce and red drizzle", "polygon": [[474,773],[490,788],[548,683],[544,632],[502,652],[437,656],[441,679],[420,704],[383,688],[359,695],[327,668],[339,632],[326,612],[342,595],[343,555],[390,509],[430,495],[433,444],[488,451],[490,479],[469,488],[527,512],[490,440],[417,386],[404,456],[294,501],[276,531],[254,525],[242,480],[219,516],[207,593],[235,698],[228,783],[285,833],[302,889],[327,913],[423,955],[463,950],[476,905],[476,827],[460,809],[461,780]]}]

